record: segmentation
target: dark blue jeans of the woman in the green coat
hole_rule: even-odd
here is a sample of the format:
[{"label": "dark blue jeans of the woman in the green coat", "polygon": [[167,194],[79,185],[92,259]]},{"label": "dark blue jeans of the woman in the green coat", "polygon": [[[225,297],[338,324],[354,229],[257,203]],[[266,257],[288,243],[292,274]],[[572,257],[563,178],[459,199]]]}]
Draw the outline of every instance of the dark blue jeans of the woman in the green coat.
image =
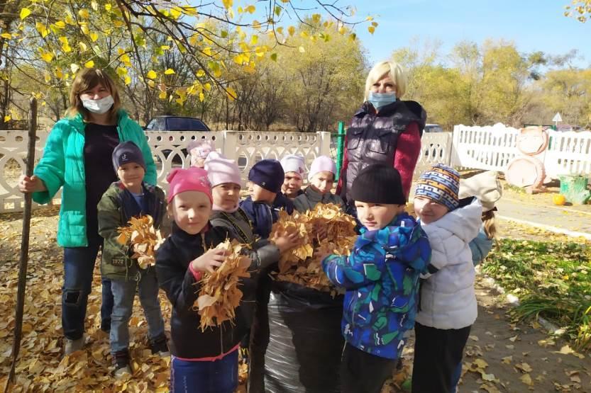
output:
[{"label": "dark blue jeans of the woman in the green coat", "polygon": [[[84,334],[88,295],[92,290],[94,262],[102,239],[90,239],[87,247],[64,249],[64,286],[62,287],[62,328],[64,336],[77,340]],[[102,280],[101,325],[109,326],[113,293],[109,280]]]}]

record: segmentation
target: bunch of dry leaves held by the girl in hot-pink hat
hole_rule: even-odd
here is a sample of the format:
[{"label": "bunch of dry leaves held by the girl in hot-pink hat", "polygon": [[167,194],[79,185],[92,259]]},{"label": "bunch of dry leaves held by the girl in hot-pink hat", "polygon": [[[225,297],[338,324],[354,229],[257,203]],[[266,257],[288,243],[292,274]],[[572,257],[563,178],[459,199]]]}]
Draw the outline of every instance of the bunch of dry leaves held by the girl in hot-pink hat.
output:
[{"label": "bunch of dry leaves held by the girl in hot-pink hat", "polygon": [[226,240],[216,249],[228,252],[226,260],[213,273],[205,273],[201,279],[199,297],[193,304],[201,316],[199,327],[204,331],[208,327],[219,326],[223,321],[233,321],[236,307],[242,299],[238,288],[241,278],[250,277],[248,267],[250,258],[241,255],[243,244]]}]

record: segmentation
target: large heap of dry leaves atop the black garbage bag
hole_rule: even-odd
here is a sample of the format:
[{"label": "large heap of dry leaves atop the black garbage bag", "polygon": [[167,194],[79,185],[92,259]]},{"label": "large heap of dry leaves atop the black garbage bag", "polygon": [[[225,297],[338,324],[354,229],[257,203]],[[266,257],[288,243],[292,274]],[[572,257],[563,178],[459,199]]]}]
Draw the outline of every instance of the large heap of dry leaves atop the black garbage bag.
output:
[{"label": "large heap of dry leaves atop the black garbage bag", "polygon": [[[326,229],[326,238],[315,236],[319,228]],[[275,234],[298,230],[300,245],[285,253],[279,264],[278,280],[336,293],[322,270],[322,259],[328,254],[349,255],[355,239],[355,220],[332,203],[318,204],[303,214],[289,216],[280,212],[273,227]]]}]

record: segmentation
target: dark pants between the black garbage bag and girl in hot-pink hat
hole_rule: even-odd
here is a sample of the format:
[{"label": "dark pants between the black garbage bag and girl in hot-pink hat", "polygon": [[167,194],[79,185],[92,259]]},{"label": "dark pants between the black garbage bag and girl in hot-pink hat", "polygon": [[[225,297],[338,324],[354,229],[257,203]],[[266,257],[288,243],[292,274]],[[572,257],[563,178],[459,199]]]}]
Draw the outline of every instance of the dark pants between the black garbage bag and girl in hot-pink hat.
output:
[{"label": "dark pants between the black garbage bag and girl in hot-pink hat", "polygon": [[260,275],[256,289],[256,305],[253,326],[250,330],[250,372],[248,392],[265,392],[265,352],[269,346],[269,297],[272,280],[266,274]]}]

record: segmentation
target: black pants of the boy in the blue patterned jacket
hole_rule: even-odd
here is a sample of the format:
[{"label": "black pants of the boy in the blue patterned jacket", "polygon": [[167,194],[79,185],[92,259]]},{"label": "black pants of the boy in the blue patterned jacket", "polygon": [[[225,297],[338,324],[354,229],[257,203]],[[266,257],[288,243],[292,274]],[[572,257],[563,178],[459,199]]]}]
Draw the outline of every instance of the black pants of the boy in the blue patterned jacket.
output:
[{"label": "black pants of the boy in the blue patterned jacket", "polygon": [[380,393],[397,363],[397,359],[380,358],[346,343],[341,360],[341,393]]}]

